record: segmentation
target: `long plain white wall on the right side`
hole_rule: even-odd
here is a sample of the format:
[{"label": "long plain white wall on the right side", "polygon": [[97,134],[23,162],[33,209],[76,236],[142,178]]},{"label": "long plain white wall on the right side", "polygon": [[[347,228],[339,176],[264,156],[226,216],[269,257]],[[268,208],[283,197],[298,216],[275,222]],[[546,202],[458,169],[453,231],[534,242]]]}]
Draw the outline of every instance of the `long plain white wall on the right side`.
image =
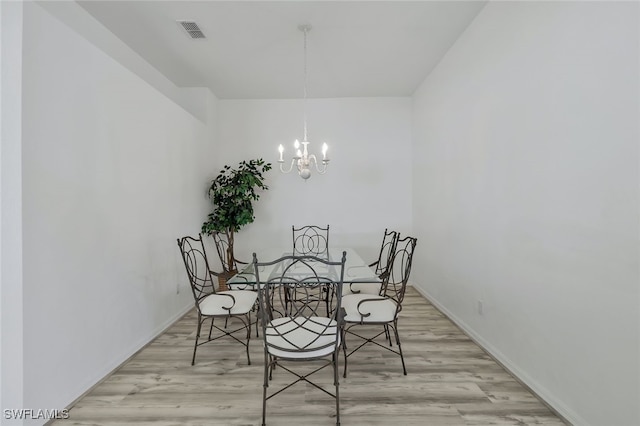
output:
[{"label": "long plain white wall on the right side", "polygon": [[640,424],[638,12],[491,2],[414,96],[413,280],[576,425]]}]

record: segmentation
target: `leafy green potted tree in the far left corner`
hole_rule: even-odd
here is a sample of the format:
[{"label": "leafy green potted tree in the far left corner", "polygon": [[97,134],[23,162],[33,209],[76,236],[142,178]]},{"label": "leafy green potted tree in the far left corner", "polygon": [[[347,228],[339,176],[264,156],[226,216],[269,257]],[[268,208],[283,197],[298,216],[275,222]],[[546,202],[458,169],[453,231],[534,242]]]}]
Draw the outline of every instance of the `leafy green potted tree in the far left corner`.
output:
[{"label": "leafy green potted tree in the far left corner", "polygon": [[[202,224],[202,233],[212,235],[218,232],[226,237],[226,253],[224,259],[220,260],[227,277],[237,273],[233,251],[234,234],[244,225],[254,221],[253,202],[260,198],[258,189],[269,189],[264,184],[263,176],[263,173],[269,170],[271,163],[265,163],[262,158],[241,161],[235,169],[225,165],[220,174],[211,181],[209,198],[213,203],[213,212]],[[220,283],[220,286],[224,287],[223,283]]]}]

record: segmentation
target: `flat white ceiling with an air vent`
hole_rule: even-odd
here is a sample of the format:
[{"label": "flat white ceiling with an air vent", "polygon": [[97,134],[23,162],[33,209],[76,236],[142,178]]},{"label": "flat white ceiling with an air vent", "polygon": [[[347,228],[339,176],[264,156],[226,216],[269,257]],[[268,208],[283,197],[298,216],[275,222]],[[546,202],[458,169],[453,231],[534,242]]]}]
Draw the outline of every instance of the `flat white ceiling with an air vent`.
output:
[{"label": "flat white ceiling with an air vent", "polygon": [[[486,1],[79,1],[179,87],[221,99],[409,96]],[[186,35],[195,21],[206,39]]]}]

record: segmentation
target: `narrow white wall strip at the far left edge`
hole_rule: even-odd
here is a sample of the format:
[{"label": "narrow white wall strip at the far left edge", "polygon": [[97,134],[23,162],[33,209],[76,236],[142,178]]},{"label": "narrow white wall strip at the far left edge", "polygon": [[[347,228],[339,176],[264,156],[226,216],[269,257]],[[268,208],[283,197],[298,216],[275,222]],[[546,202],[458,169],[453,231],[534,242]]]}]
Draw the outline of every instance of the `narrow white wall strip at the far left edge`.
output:
[{"label": "narrow white wall strip at the far left edge", "polygon": [[[0,1],[0,407],[23,403],[22,16]],[[0,420],[2,422],[2,420]]]}]

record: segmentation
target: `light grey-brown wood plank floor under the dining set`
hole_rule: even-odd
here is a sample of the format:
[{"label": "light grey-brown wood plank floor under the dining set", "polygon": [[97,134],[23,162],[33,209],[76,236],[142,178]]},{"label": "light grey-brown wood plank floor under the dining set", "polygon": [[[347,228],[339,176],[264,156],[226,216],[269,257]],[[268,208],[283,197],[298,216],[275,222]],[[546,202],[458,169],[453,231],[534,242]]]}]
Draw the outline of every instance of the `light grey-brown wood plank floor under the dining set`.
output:
[{"label": "light grey-brown wood plank floor under the dining set", "polygon": [[[199,347],[191,366],[195,318],[184,316],[52,424],[259,425],[261,341],[254,332],[250,366],[228,338]],[[408,375],[391,352],[356,352],[340,380],[342,425],[565,424],[413,288],[399,330]],[[317,374],[331,384],[331,369]],[[276,370],[274,386],[289,378]],[[273,426],[335,425],[334,415],[334,401],[303,384],[267,403]]]}]

